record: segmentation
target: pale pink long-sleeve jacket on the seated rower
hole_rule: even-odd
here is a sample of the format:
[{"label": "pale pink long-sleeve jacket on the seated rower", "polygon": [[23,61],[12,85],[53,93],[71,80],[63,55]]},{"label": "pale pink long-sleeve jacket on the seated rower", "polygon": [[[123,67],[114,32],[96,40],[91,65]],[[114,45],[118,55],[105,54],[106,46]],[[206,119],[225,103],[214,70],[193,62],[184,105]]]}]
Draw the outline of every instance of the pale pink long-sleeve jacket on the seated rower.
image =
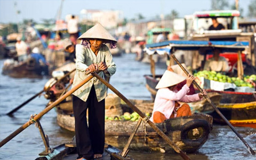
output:
[{"label": "pale pink long-sleeve jacket on the seated rower", "polygon": [[161,112],[164,114],[165,118],[169,119],[175,108],[175,101],[194,102],[200,100],[198,94],[186,95],[188,92],[189,87],[187,84],[183,85],[182,89],[178,92],[171,91],[167,87],[159,89],[156,93],[154,109],[150,121],[153,122],[155,111]]}]

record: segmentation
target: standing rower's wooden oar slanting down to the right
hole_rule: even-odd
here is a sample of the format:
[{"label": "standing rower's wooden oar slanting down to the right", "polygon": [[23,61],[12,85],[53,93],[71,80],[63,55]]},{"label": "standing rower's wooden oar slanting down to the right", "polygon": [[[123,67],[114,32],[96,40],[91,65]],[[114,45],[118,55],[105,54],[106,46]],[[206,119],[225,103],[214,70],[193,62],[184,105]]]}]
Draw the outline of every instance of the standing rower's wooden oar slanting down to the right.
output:
[{"label": "standing rower's wooden oar slanting down to the right", "polygon": [[[111,84],[109,84],[105,79],[101,78],[97,73],[91,73],[93,76],[97,77],[103,84],[105,84],[110,90],[112,90],[118,97],[120,97],[123,101],[126,102],[135,112],[137,112],[141,118],[146,118],[145,114],[142,113],[136,106],[134,106],[127,98],[124,97],[119,91],[115,89]],[[183,158],[190,159],[185,152],[183,152],[174,142],[172,142],[167,135],[164,134],[153,122],[150,120],[146,121],[153,129]]]}]

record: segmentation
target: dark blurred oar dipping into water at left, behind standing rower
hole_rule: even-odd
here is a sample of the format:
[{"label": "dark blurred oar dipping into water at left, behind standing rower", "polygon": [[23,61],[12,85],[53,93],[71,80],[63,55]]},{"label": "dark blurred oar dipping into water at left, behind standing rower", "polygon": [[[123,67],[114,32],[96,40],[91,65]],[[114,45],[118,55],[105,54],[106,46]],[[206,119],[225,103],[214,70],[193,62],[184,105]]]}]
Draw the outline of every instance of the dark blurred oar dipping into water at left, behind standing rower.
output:
[{"label": "dark blurred oar dipping into water at left, behind standing rower", "polygon": [[[63,77],[61,77],[60,79],[58,79],[58,81],[54,82],[52,86],[54,86],[54,84],[62,81],[65,77],[69,76],[71,73],[73,73],[76,69],[73,69],[71,71],[69,71],[69,73],[65,74]],[[52,87],[51,86],[51,87]],[[51,89],[51,87],[48,87],[45,92],[49,91]],[[35,95],[33,95],[33,97],[29,98],[28,100],[26,100],[25,102],[23,102],[21,105],[19,105],[18,107],[14,108],[13,110],[11,110],[9,113],[7,113],[6,115],[11,116],[15,111],[17,111],[18,109],[20,109],[21,107],[25,106],[28,102],[30,102],[31,100],[33,100],[34,98],[36,98],[38,95],[40,95],[41,93],[43,93],[44,90],[36,93]]]}]

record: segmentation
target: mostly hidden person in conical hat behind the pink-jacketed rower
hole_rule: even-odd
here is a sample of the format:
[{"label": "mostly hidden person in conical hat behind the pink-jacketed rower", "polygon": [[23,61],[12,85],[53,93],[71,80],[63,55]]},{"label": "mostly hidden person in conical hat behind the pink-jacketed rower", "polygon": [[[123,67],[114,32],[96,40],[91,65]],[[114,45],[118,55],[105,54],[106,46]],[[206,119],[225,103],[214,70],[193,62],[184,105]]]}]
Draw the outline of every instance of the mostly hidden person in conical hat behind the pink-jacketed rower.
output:
[{"label": "mostly hidden person in conical hat behind the pink-jacketed rower", "polygon": [[[186,70],[188,70],[187,67],[186,67],[186,65],[185,65],[185,63],[182,63],[181,65],[182,65]],[[176,74],[178,74],[178,75],[181,75],[181,76],[183,76],[183,77],[186,77],[186,76],[187,76],[187,75],[185,74],[185,72],[180,68],[179,65],[167,66],[167,70],[170,70],[170,71],[172,71],[172,72],[174,72],[174,73],[176,73]],[[177,86],[176,86],[177,91],[181,90],[181,89],[182,89],[182,86],[185,85],[186,83],[187,83],[187,80],[184,80],[184,81],[182,81],[181,83],[177,84]],[[189,86],[189,92],[187,93],[187,95],[192,95],[192,94],[195,94],[195,88],[194,88],[193,85],[190,85],[190,86]]]}]

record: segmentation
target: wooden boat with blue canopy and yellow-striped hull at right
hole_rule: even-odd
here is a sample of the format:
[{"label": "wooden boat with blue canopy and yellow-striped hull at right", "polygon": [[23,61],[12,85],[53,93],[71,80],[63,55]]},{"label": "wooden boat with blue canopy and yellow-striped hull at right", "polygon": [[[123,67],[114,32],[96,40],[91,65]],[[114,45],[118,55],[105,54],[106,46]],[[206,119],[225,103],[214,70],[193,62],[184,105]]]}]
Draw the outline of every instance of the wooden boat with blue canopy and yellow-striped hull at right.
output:
[{"label": "wooden boat with blue canopy and yellow-striped hull at right", "polygon": [[[213,42],[211,46],[213,46],[214,43],[215,42]],[[234,43],[237,43],[237,42],[234,42]],[[158,53],[158,52],[159,53],[165,52],[169,54],[172,50],[176,50],[176,49],[177,50],[198,50],[199,47],[206,47],[206,46],[210,46],[210,45],[208,45],[208,42],[205,43],[204,41],[195,42],[195,44],[193,44],[193,41],[192,42],[169,41],[169,42],[162,42],[158,44],[148,45],[147,46],[148,49],[146,50],[149,50],[148,53],[152,53],[152,54]],[[215,47],[222,47],[225,49],[229,49],[230,47],[230,49],[232,49],[233,51],[238,50],[238,54],[241,52],[239,50],[243,50],[246,48],[246,46],[243,46],[243,44],[239,46],[229,46],[226,44],[221,46],[220,44],[216,44]],[[153,64],[153,67],[154,67],[154,64]],[[241,69],[242,68],[240,68],[239,73],[243,73]],[[146,87],[151,93],[151,97],[154,99],[157,92],[157,90],[155,89],[155,86],[159,82],[159,79],[162,77],[162,75],[155,75],[154,69],[151,69],[151,72],[152,72],[152,75],[145,75],[145,78],[146,78]],[[210,93],[220,94],[221,98],[218,95],[214,95],[213,98],[211,99],[213,99],[213,102],[215,103],[215,105],[217,105],[221,113],[229,120],[229,122],[232,125],[255,127],[256,125],[255,123],[256,115],[254,114],[256,113],[256,110],[255,110],[256,98],[254,95],[255,93],[214,91],[214,90],[206,90],[206,91],[209,94]],[[247,107],[247,106],[250,106],[250,107]],[[198,108],[198,107],[201,107],[201,108]],[[192,103],[190,104],[190,108],[193,111],[212,115],[214,122],[222,122],[221,117],[217,116],[218,114],[206,101],[197,102],[196,104]]]}]

